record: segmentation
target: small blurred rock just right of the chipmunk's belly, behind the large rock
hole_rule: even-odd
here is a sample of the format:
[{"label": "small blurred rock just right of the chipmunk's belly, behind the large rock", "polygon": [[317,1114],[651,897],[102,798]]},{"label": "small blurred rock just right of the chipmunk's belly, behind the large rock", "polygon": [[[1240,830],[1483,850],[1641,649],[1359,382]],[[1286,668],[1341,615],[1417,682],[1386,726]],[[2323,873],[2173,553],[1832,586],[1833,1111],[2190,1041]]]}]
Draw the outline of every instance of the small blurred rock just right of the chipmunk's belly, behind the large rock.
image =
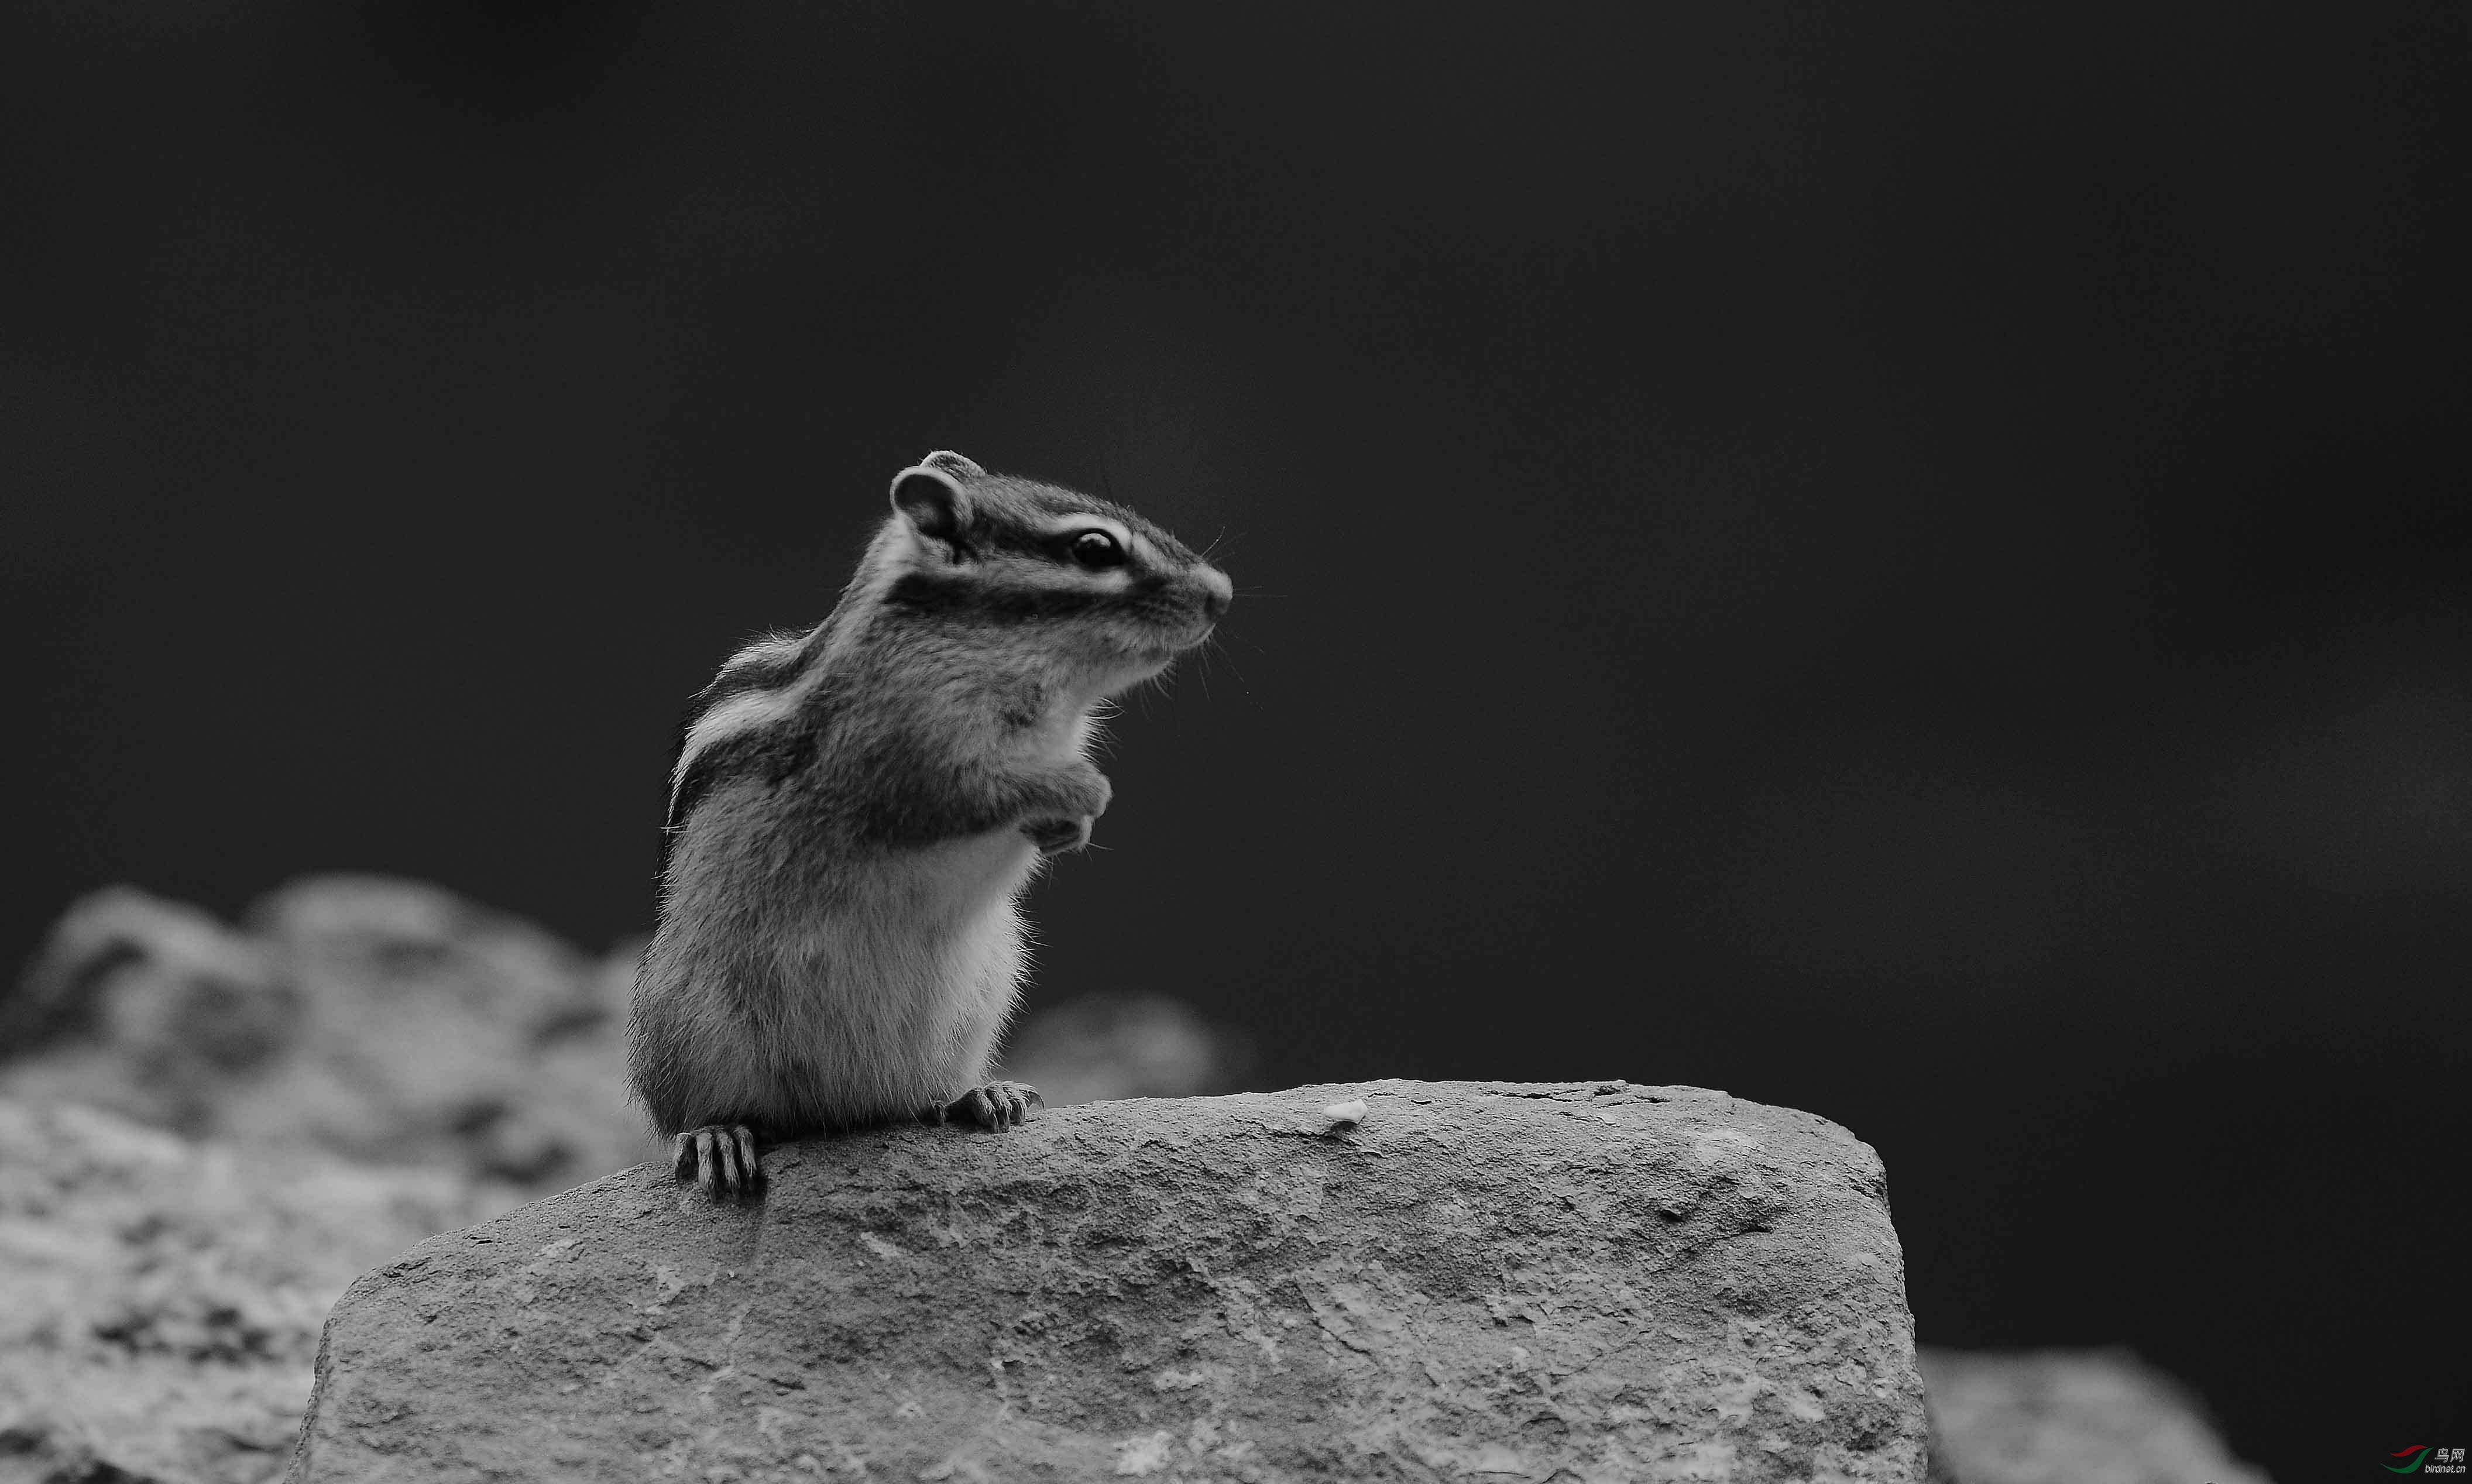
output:
[{"label": "small blurred rock just right of the chipmunk's belly, behind the large rock", "polygon": [[1004,1066],[1036,1086],[1048,1108],[1196,1098],[1241,1091],[1253,1078],[1253,1039],[1164,994],[1083,994],[1028,1017]]}]

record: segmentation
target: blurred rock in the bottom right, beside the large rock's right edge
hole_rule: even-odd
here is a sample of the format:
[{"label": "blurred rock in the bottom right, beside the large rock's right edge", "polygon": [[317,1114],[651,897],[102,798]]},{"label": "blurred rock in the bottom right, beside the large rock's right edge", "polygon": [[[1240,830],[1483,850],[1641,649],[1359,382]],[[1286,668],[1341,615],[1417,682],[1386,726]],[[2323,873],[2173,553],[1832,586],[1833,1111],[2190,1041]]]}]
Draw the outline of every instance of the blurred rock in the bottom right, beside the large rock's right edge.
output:
[{"label": "blurred rock in the bottom right, beside the large rock's right edge", "polygon": [[1958,1484],[2267,1484],[2203,1402],[2128,1350],[1921,1350],[1931,1452]]}]

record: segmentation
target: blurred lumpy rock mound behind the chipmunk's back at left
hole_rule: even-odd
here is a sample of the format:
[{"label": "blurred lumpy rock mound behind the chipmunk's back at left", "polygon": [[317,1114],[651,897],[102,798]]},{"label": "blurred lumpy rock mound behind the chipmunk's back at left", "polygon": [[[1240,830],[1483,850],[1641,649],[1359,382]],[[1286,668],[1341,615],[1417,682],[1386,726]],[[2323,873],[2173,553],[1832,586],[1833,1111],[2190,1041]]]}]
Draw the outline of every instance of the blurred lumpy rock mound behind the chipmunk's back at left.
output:
[{"label": "blurred lumpy rock mound behind the chipmunk's back at left", "polygon": [[77,903],[0,1004],[0,1093],[452,1167],[502,1205],[653,1155],[620,1051],[633,952],[381,878],[302,881],[247,920]]}]

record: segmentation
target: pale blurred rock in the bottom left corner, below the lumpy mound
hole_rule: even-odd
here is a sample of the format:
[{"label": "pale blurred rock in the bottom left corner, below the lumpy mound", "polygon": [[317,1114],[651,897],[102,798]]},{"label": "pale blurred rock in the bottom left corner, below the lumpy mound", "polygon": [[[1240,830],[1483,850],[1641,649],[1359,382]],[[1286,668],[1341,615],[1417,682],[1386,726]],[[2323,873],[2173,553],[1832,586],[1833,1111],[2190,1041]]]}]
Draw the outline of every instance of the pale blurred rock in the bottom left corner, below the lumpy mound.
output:
[{"label": "pale blurred rock in the bottom left corner, below the lumpy mound", "polygon": [[282,1474],[326,1308],[482,1214],[447,1170],[0,1098],[0,1482]]}]

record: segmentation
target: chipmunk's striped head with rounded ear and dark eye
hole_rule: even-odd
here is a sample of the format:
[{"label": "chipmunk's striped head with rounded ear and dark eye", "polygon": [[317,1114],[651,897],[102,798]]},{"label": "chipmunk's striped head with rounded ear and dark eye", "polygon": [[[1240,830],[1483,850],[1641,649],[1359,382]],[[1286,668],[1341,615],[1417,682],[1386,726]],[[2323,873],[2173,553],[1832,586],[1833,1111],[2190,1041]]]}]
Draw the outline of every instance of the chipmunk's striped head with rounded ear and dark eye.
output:
[{"label": "chipmunk's striped head with rounded ear and dark eye", "polygon": [[1229,576],[1140,514],[929,453],[892,477],[885,603],[1036,633],[1112,685],[1209,638]]}]

